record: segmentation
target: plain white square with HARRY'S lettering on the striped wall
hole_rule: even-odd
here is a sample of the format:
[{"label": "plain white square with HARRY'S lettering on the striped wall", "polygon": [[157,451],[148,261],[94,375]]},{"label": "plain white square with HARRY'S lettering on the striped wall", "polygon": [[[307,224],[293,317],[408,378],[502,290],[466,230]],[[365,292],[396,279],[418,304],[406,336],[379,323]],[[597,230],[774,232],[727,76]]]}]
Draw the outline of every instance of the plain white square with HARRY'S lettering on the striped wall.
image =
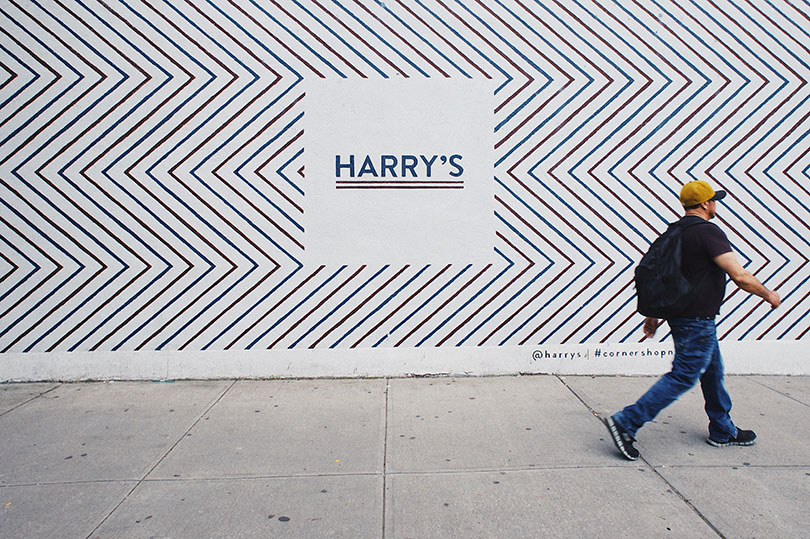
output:
[{"label": "plain white square with HARRY'S lettering on the striped wall", "polygon": [[305,260],[489,263],[494,83],[308,81]]}]

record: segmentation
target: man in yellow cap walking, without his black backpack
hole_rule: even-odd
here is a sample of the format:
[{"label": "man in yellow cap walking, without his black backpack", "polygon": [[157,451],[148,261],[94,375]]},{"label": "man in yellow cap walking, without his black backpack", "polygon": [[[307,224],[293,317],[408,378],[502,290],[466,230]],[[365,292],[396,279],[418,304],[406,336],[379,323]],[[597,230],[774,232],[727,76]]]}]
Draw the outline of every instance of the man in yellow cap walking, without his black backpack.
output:
[{"label": "man in yellow cap walking, without his black backpack", "polygon": [[[772,308],[779,306],[779,294],[768,290],[743,268],[731,250],[728,238],[709,220],[716,216],[718,200],[725,191],[715,191],[704,181],[692,181],[681,190],[685,214],[682,229],[684,276],[697,287],[692,301],[678,317],[667,320],[675,343],[672,370],[662,376],[635,403],[605,420],[613,442],[629,460],[636,460],[635,435],[644,423],[655,418],[700,380],[706,414],[709,416],[707,442],[716,447],[752,445],[756,434],[738,429],[731,421],[731,397],[723,385],[723,360],[717,342],[714,318],[725,297],[726,275],[744,291],[761,297]],[[655,335],[661,322],[647,318],[644,336]]]}]

